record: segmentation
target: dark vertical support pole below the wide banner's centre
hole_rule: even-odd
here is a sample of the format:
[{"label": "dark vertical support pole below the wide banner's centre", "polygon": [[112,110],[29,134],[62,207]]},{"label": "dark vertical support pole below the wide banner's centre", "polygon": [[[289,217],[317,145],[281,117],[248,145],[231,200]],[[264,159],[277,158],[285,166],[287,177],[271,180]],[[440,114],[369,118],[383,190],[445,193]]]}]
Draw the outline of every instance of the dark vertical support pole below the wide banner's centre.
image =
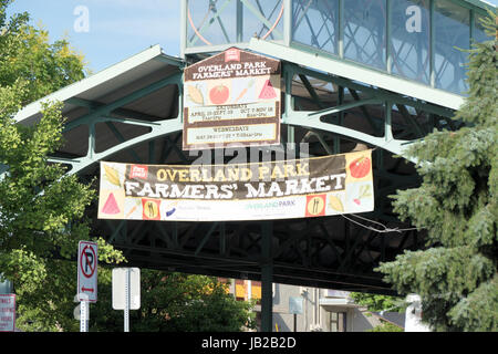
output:
[{"label": "dark vertical support pole below the wide banner's centre", "polygon": [[261,226],[261,331],[271,332],[273,315],[272,279],[273,263],[271,260],[272,221],[263,221]]}]

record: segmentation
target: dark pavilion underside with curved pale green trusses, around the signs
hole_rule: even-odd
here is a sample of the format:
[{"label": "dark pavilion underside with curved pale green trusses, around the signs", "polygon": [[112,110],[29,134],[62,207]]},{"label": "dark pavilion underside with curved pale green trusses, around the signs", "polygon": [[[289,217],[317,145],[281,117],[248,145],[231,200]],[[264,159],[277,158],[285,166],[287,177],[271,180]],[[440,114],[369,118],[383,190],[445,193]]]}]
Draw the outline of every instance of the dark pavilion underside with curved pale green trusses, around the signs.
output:
[{"label": "dark pavilion underside with curved pale green trusses, around the signs", "polygon": [[[107,97],[107,103],[69,98],[77,114],[64,129],[69,143],[51,162],[89,181],[97,175],[100,160],[190,164],[197,155],[181,150],[181,67],[138,90],[127,87],[127,94]],[[413,163],[394,155],[403,156],[406,146],[434,128],[457,128],[450,111],[293,63],[283,62],[282,69],[282,144],[308,143],[313,156],[376,148],[375,211],[363,217],[391,229],[408,227],[392,212],[387,196],[419,179]],[[162,114],[151,113],[159,103]],[[231,157],[224,158],[227,163]],[[131,264],[253,280],[267,270],[274,282],[352,291],[393,293],[373,269],[405,249],[423,247],[423,232],[378,233],[341,216],[264,222],[112,221],[97,220],[95,205],[89,216],[95,235],[124,250]]]}]

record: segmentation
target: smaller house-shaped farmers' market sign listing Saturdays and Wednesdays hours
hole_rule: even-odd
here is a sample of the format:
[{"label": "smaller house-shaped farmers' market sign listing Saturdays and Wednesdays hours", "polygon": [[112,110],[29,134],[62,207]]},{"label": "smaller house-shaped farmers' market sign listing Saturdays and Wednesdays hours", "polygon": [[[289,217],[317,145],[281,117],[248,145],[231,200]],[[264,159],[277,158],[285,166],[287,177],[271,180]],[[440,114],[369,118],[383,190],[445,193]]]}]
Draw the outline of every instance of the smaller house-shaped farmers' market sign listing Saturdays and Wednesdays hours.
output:
[{"label": "smaller house-shaped farmers' market sign listing Saturdays and Wednesdays hours", "polygon": [[237,48],[185,69],[184,150],[280,143],[280,61]]}]

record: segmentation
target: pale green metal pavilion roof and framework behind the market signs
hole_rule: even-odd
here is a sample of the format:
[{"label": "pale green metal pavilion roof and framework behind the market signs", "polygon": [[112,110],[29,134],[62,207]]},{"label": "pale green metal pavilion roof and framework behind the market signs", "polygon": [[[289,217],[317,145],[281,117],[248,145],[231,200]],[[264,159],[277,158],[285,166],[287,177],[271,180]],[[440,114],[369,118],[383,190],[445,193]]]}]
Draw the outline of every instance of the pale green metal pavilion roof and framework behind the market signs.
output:
[{"label": "pale green metal pavilion roof and framework behind the market signs", "polygon": [[[341,9],[343,1],[338,1]],[[131,266],[262,280],[262,308],[267,310],[271,309],[271,282],[393,294],[374,269],[404,250],[423,248],[424,231],[380,233],[360,223],[381,222],[391,230],[409,228],[393,214],[388,196],[396,189],[417,186],[419,178],[413,160],[396,156],[404,156],[409,144],[434,129],[458,129],[461,124],[452,116],[464,98],[434,83],[404,80],[388,71],[354,64],[341,55],[331,56],[323,52],[323,45],[317,50],[291,45],[290,28],[298,24],[293,15],[310,25],[317,43],[319,33],[313,31],[303,1],[273,2],[274,9],[280,9],[280,4],[284,9],[283,33],[274,32],[280,33],[280,39],[251,39],[240,45],[282,61],[281,149],[286,150],[286,144],[299,148],[300,143],[307,143],[310,155],[321,156],[375,148],[375,211],[363,215],[372,221],[355,222],[342,216],[263,222],[113,221],[97,220],[96,206],[92,206],[87,212],[93,230],[122,249]],[[240,9],[243,4],[256,11],[249,0],[237,3]],[[299,11],[292,14],[290,9],[295,3],[298,8],[293,9]],[[242,12],[237,9],[240,20]],[[187,10],[185,0],[184,42]],[[220,15],[214,13],[209,23],[220,23]],[[274,28],[263,11],[259,18],[262,30]],[[321,18],[324,23],[331,21],[329,12]],[[207,31],[208,27],[197,30]],[[237,39],[243,39],[241,33],[237,24]],[[189,43],[194,42],[191,37]],[[63,134],[68,143],[50,162],[68,166],[68,174],[76,174],[83,180],[90,181],[97,175],[100,160],[191,164],[197,155],[181,150],[184,67],[234,43],[210,48],[187,44],[184,43],[184,59],[152,46],[24,107],[17,119],[32,124],[40,118],[42,102],[63,102],[63,115],[68,117]],[[388,50],[386,55],[388,62]],[[436,73],[435,67],[433,71]],[[231,156],[222,158],[228,163]],[[263,327],[271,331],[271,320],[268,324],[268,314],[264,316]]]}]

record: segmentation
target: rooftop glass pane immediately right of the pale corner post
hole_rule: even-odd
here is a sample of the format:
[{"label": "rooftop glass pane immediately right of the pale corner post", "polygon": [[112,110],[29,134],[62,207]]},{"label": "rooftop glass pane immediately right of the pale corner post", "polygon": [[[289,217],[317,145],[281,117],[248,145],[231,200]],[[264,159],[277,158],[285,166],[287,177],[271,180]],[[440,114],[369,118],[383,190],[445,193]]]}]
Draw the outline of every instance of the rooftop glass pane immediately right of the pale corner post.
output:
[{"label": "rooftop glass pane immediately right of the pale corner post", "polygon": [[339,0],[294,0],[292,39],[330,53],[338,52]]}]

